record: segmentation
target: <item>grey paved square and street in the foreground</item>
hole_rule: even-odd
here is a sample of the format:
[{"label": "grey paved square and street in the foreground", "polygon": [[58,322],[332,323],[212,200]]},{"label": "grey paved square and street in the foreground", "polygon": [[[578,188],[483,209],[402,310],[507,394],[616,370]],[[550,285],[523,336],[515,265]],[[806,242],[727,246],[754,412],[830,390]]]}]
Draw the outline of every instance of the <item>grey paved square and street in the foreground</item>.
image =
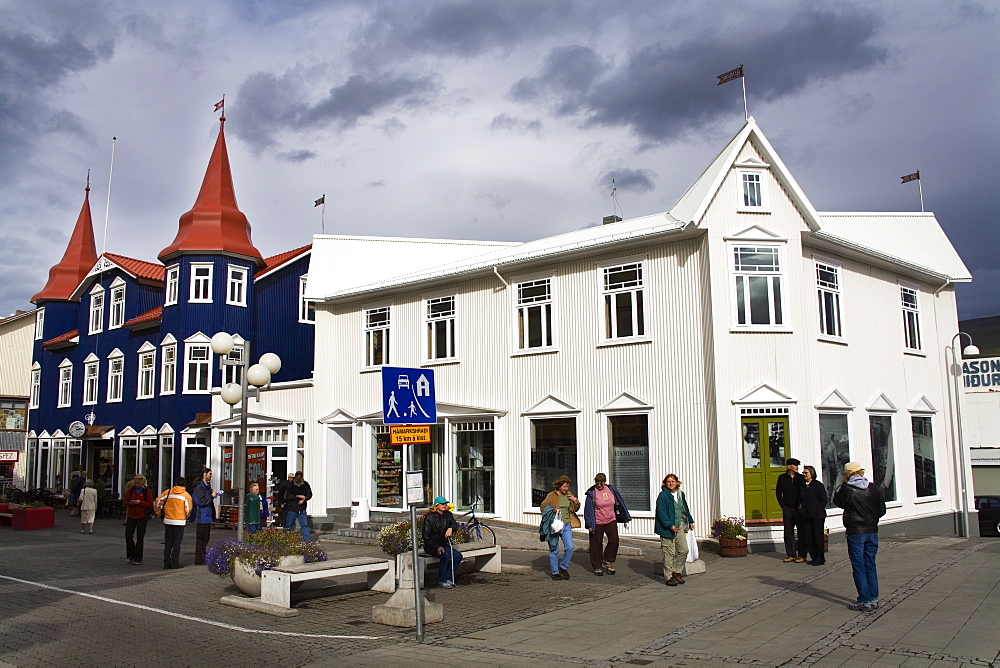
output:
[{"label": "grey paved square and street in the foreground", "polygon": [[[120,522],[99,520],[93,536],[77,527],[65,511],[55,529],[0,527],[0,666],[1000,666],[998,540],[883,539],[873,614],[846,607],[854,585],[843,544],[819,568],[774,553],[709,555],[707,572],[681,587],[653,575],[655,550],[600,578],[578,553],[569,581],[548,577],[544,553],[509,550],[505,564],[532,570],[429,589],[445,621],[416,643],[412,629],[371,622],[387,594],[314,598],[296,605],[298,617],[269,617],[219,603],[236,589],[191,565],[193,531],[187,567],[163,570],[159,523],[142,566],[126,562]],[[328,548],[331,558],[373,554]]]}]

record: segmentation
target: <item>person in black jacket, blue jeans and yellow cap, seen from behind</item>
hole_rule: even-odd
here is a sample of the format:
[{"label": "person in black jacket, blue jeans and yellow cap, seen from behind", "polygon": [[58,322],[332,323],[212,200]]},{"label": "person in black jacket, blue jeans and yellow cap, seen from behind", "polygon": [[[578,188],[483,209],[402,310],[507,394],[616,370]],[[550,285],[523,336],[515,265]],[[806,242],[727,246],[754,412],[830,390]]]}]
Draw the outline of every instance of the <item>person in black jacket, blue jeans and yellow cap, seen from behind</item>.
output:
[{"label": "person in black jacket, blue jeans and yellow cap, seen from behind", "polygon": [[875,555],[878,553],[878,521],[885,515],[885,501],[878,485],[865,478],[865,470],[857,462],[844,465],[843,484],[833,495],[833,503],[844,509],[847,530],[847,556],[851,559],[854,586],[858,600],[851,610],[874,612],[878,609],[878,573]]}]

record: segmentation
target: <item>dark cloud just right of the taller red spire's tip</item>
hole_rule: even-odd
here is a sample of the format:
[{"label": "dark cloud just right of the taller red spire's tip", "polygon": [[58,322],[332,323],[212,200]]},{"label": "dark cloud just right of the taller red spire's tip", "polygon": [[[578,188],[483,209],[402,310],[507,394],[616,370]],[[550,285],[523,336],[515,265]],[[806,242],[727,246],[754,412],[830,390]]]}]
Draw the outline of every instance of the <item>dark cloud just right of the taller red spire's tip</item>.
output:
[{"label": "dark cloud just right of the taller red spire's tip", "polygon": [[[247,123],[240,126],[236,134],[261,151],[276,147],[275,136],[283,130],[349,128],[382,111],[424,107],[429,103],[428,96],[439,89],[437,81],[430,76],[354,74],[310,105],[302,102],[309,97],[309,89],[315,87],[307,81],[309,78],[298,69],[280,77],[270,72],[248,76],[237,97],[241,107],[251,112]],[[395,124],[402,125],[398,120]]]}]

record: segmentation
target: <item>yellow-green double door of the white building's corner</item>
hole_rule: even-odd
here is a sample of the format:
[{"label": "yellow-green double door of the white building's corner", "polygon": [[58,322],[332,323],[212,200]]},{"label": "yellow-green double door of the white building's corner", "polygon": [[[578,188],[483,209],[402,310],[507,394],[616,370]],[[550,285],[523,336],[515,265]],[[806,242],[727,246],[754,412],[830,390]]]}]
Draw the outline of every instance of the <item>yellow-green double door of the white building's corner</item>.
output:
[{"label": "yellow-green double door of the white building's corner", "polygon": [[743,418],[743,503],[748,520],[781,519],[774,496],[788,454],[787,417]]}]

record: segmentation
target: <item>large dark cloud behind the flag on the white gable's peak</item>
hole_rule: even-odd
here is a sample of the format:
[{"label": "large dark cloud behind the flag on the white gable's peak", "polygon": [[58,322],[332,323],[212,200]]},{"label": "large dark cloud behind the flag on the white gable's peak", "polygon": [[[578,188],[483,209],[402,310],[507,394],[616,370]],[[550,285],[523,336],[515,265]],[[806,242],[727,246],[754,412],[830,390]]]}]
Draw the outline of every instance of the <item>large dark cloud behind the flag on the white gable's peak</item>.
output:
[{"label": "large dark cloud behind the flag on the white gable's peak", "polygon": [[[539,75],[517,82],[510,97],[585,126],[626,126],[641,139],[662,142],[732,113],[742,101],[740,82],[717,88],[715,75],[741,62],[747,63],[752,113],[755,101],[774,101],[887,58],[876,44],[881,21],[863,9],[803,9],[782,24],[758,25],[745,27],[739,39],[716,30],[652,43],[610,70],[589,47],[553,49]],[[564,68],[573,60],[582,66],[567,76]]]}]

